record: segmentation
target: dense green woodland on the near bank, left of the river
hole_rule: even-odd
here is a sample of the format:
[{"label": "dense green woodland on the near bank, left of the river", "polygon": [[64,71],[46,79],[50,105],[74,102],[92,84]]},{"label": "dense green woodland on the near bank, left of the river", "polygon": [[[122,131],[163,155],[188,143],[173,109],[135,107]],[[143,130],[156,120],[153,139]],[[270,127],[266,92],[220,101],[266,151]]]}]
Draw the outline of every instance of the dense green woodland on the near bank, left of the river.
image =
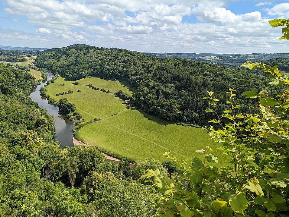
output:
[{"label": "dense green woodland on the near bank, left of the river", "polygon": [[176,165],[145,160],[131,168],[97,148],[62,149],[54,119],[29,98],[36,84],[31,74],[0,64],[0,215],[155,216],[156,190],[138,178],[147,168],[168,176]]}]

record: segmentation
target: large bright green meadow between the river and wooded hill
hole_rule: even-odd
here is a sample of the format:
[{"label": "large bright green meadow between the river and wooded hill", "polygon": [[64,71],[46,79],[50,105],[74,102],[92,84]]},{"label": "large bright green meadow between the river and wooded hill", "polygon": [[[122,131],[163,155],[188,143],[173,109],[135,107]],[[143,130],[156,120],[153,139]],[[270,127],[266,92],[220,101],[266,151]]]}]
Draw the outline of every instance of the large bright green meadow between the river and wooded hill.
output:
[{"label": "large bright green meadow between the river and wooded hill", "polygon": [[[76,137],[89,145],[99,146],[110,153],[134,160],[164,160],[162,154],[168,151],[179,159],[192,159],[201,157],[201,154],[195,152],[196,149],[205,149],[208,145],[214,149],[216,156],[219,156],[218,165],[226,164],[224,155],[216,150],[218,144],[208,140],[206,131],[170,124],[136,108],[126,109],[122,100],[111,93],[85,86],[91,83],[96,87],[111,90],[112,93],[123,90],[131,94],[133,90],[129,90],[125,83],[95,77],[84,78],[78,82],[79,85],[73,85],[72,81],[59,77],[55,83],[48,85],[47,93],[54,99],[67,98],[76,105],[76,111],[83,115],[85,121],[102,118],[101,121],[87,124],[76,132]],[[59,86],[63,83],[66,85]],[[55,96],[68,90],[73,90],[73,93]],[[81,92],[76,93],[77,90]]]}]

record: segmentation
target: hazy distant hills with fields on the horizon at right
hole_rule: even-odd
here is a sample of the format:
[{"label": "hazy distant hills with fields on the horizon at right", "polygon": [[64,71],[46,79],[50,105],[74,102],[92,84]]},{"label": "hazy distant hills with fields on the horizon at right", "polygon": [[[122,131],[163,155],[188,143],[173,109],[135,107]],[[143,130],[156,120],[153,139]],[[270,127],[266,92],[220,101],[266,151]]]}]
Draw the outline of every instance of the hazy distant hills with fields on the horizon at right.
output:
[{"label": "hazy distant hills with fields on the horizon at right", "polygon": [[215,54],[215,53],[146,53],[160,58],[181,57],[196,61],[211,63],[244,63],[245,61],[259,62],[272,58],[289,58],[289,53],[252,53],[252,54]]}]

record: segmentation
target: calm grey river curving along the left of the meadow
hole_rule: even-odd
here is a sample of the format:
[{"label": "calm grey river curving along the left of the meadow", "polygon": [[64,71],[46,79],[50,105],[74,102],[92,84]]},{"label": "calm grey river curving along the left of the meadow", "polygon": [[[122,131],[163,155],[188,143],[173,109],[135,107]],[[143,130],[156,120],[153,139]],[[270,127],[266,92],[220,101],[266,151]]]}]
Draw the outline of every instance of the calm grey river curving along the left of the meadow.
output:
[{"label": "calm grey river curving along the left of the meadow", "polygon": [[[50,80],[52,77],[52,73],[47,73],[47,80]],[[72,128],[74,127],[74,124],[72,121],[65,118],[65,116],[59,115],[58,108],[54,105],[50,105],[47,99],[40,96],[40,88],[45,84],[46,81],[41,82],[29,96],[34,102],[37,102],[41,108],[45,108],[47,112],[53,116],[55,121],[55,138],[59,141],[60,145],[63,148],[66,146],[71,147],[73,146]]]}]

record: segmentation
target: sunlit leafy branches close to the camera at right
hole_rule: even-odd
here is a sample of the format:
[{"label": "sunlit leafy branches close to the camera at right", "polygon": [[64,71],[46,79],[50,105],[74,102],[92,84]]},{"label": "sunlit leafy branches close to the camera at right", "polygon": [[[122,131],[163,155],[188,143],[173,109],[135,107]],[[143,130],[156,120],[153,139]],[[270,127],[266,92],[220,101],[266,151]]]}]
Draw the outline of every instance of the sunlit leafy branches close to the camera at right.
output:
[{"label": "sunlit leafy branches close to the camera at right", "polygon": [[149,177],[160,192],[154,201],[161,208],[159,216],[288,216],[289,77],[281,74],[277,65],[246,62],[242,66],[261,68],[270,76],[271,85],[286,85],[287,90],[274,98],[265,91],[245,91],[243,96],[258,99],[255,114],[236,113],[240,105],[235,103],[234,89],[227,92],[230,108],[219,113],[219,99],[214,92],[208,92],[205,98],[211,108],[206,112],[215,114],[216,118],[209,122],[217,124],[209,128],[210,136],[220,143],[219,149],[231,162],[223,168],[212,165],[218,163],[218,158],[209,146],[196,150],[200,158],[191,164],[178,163],[166,153],[182,170],[177,178],[163,177],[159,170],[151,169],[142,176]]}]

